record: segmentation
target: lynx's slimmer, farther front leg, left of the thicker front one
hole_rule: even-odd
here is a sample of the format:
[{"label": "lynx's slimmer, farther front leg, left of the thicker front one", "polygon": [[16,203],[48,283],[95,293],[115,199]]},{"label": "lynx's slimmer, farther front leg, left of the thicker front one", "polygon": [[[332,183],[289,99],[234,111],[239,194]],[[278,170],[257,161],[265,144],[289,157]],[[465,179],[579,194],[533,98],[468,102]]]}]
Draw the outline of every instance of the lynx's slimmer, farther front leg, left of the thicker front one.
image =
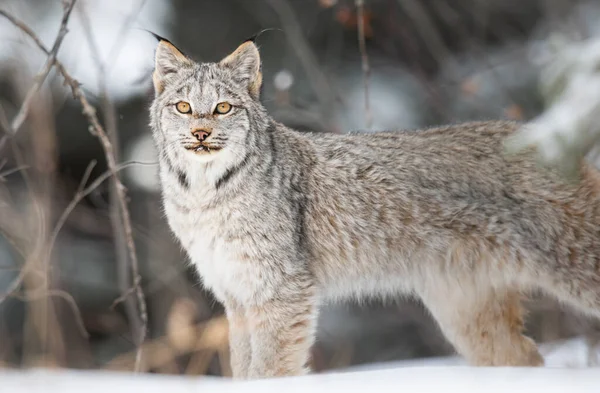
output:
[{"label": "lynx's slimmer, farther front leg, left of the thicker front one", "polygon": [[233,372],[233,378],[244,379],[248,377],[248,370],[252,361],[248,320],[245,310],[239,305],[228,302],[225,308],[229,322],[231,371]]}]

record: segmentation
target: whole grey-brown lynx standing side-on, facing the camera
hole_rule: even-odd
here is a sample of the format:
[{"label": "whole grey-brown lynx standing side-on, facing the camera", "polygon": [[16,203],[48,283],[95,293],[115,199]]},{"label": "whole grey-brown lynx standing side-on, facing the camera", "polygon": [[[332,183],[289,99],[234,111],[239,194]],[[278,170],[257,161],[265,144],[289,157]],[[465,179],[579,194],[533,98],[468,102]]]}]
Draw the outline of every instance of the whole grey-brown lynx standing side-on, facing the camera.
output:
[{"label": "whole grey-brown lynx standing side-on, facing the camera", "polygon": [[414,295],[480,366],[543,365],[530,291],[600,316],[600,176],[504,154],[519,124],[297,132],[259,101],[253,41],[197,63],[161,40],[153,81],[164,210],[225,306],[234,378],[307,373],[325,301]]}]

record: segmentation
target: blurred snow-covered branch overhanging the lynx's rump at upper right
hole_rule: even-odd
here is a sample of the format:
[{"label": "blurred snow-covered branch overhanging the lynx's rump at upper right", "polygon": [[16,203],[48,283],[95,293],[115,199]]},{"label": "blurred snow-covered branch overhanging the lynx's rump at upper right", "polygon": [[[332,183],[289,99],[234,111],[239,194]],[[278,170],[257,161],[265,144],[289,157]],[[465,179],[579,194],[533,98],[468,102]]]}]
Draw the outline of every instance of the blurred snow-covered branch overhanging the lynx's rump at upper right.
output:
[{"label": "blurred snow-covered branch overhanging the lynx's rump at upper right", "polygon": [[555,32],[530,43],[547,108],[508,143],[512,151],[535,146],[542,162],[567,175],[575,174],[580,158],[600,139],[600,34],[591,22],[597,21],[600,6],[590,2],[578,15],[585,16],[581,27],[590,30],[589,38],[573,40]]}]

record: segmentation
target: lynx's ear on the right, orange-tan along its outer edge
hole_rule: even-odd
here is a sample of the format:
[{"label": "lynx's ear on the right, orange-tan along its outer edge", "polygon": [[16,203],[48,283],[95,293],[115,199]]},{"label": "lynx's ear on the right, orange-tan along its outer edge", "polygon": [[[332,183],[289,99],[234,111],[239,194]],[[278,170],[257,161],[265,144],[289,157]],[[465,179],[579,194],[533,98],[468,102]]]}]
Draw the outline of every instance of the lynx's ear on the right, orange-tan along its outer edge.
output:
[{"label": "lynx's ear on the right, orange-tan along its outer edge", "polygon": [[254,99],[260,95],[262,73],[260,71],[260,53],[252,41],[246,41],[232,54],[221,60],[221,66],[229,68],[233,77],[248,86],[248,91]]}]

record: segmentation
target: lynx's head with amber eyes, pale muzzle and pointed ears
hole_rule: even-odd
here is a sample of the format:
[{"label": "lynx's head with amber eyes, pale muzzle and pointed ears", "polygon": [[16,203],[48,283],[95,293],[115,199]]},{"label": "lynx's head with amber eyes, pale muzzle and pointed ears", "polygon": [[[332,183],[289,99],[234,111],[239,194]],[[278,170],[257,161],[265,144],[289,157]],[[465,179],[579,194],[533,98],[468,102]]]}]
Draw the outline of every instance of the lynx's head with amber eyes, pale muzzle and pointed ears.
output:
[{"label": "lynx's head with amber eyes, pale muzzle and pointed ears", "polygon": [[151,109],[154,137],[172,160],[241,156],[266,122],[258,98],[260,54],[246,41],[218,63],[197,63],[172,43],[156,50]]}]

